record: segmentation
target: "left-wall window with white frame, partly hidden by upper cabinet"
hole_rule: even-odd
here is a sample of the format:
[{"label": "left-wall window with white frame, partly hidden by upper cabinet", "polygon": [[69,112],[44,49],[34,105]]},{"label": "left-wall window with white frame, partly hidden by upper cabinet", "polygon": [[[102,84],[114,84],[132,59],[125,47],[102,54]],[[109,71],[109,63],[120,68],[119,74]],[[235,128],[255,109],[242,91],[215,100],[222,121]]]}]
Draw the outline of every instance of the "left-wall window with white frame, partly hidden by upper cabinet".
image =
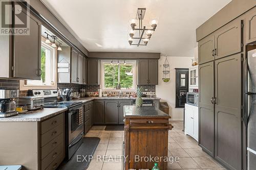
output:
[{"label": "left-wall window with white frame, partly hidden by upper cabinet", "polygon": [[26,80],[24,87],[53,87],[56,86],[56,49],[41,41],[41,80]]}]

